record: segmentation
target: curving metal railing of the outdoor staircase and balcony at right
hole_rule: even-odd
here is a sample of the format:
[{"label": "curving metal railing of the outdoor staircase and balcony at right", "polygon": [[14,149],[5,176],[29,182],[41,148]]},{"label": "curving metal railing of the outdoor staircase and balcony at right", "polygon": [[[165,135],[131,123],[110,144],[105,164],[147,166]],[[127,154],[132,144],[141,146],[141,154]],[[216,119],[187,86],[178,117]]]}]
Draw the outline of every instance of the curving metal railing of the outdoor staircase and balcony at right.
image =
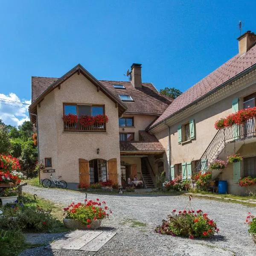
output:
[{"label": "curving metal railing of the outdoor staircase and balcony at right", "polygon": [[[206,166],[207,166],[214,156],[216,159],[227,143],[230,143],[236,140],[245,140],[251,137],[255,137],[256,136],[255,125],[256,125],[255,118],[252,118],[247,120],[242,125],[235,124],[230,127],[218,130],[215,136],[213,137],[212,141],[209,143],[207,149],[202,154],[200,160],[196,164],[192,173],[195,174],[196,172],[201,171],[202,160],[207,161],[206,163]],[[221,148],[220,151],[219,151],[219,148]],[[208,167],[206,169],[208,169]]]}]

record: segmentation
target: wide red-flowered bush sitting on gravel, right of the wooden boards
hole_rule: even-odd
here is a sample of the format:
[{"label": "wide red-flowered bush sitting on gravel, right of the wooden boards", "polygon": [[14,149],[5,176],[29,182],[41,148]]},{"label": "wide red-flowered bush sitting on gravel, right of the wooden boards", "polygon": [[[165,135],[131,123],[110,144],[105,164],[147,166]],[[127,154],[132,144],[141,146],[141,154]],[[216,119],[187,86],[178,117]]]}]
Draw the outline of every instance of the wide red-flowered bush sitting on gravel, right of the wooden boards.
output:
[{"label": "wide red-flowered bush sitting on gravel, right of the wooden boards", "polygon": [[196,212],[194,210],[176,212],[174,209],[172,214],[168,215],[168,220],[163,220],[162,225],[155,228],[155,232],[193,239],[214,236],[219,231],[216,223],[209,219],[208,214],[203,213],[201,209]]}]

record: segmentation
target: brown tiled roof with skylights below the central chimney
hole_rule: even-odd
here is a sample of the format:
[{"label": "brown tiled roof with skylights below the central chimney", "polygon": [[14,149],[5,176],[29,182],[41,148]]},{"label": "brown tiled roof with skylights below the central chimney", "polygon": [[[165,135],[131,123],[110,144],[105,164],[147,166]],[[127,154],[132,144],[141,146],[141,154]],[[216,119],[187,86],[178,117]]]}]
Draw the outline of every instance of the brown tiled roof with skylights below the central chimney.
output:
[{"label": "brown tiled roof with skylights below the central chimney", "polygon": [[[173,99],[159,93],[151,83],[142,83],[142,88],[134,88],[130,81],[100,80],[100,82],[116,98],[119,98],[119,94],[130,95],[132,97],[133,102],[123,102],[127,107],[125,113],[160,116],[173,101]],[[122,84],[125,86],[125,89],[115,89],[113,84]]]}]

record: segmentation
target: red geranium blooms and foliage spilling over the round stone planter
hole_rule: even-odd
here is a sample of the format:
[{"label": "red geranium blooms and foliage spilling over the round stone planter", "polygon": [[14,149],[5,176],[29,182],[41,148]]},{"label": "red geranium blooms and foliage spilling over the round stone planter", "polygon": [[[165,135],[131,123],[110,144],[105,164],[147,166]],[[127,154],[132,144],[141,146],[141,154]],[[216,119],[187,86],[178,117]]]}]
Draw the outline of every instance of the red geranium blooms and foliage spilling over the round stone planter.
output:
[{"label": "red geranium blooms and foliage spilling over the round stone planter", "polygon": [[68,207],[65,207],[66,218],[80,221],[90,228],[90,223],[93,220],[108,218],[109,214],[112,213],[108,206],[106,206],[106,202],[99,202],[99,198],[97,198],[96,201],[87,201],[87,199],[85,199],[84,202],[84,204],[80,202],[75,204],[73,202]]}]

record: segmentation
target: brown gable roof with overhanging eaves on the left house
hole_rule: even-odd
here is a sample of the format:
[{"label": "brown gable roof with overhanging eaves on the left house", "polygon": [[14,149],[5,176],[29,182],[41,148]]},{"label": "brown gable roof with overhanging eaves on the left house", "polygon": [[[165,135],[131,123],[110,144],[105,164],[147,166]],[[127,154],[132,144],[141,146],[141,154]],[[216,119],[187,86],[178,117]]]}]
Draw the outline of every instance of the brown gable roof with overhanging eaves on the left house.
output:
[{"label": "brown gable roof with overhanging eaves on the left house", "polygon": [[[31,113],[36,112],[36,106],[41,102],[44,97],[54,90],[56,87],[60,86],[61,83],[73,76],[74,73],[79,73],[84,75],[89,81],[91,81],[99,90],[105,93],[113,102],[118,104],[119,115],[121,115],[126,110],[126,106],[117,99],[109,90],[106,89],[94,76],[92,76],[84,67],[80,64],[76,65],[73,69],[67,72],[64,76],[59,79],[56,78],[40,78],[32,77],[32,104],[29,106],[29,111]],[[49,85],[47,87],[47,85]],[[41,93],[41,94],[40,94]],[[39,96],[40,95],[40,96]]]}]

